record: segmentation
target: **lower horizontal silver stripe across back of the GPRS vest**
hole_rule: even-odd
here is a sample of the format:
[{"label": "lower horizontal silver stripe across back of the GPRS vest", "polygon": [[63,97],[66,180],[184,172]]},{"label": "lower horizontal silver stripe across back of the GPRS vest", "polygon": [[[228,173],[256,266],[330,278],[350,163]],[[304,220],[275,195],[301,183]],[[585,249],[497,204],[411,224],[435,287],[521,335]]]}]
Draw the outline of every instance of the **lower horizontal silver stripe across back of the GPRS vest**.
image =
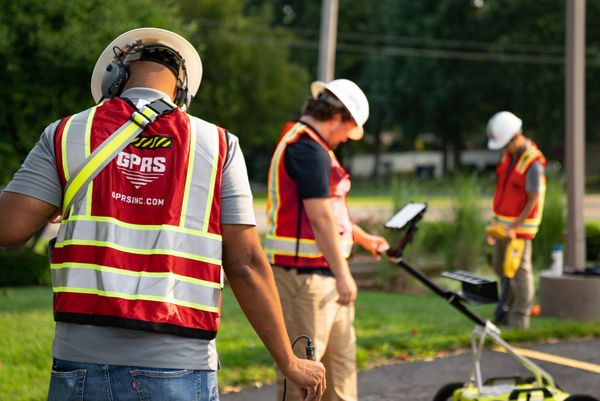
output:
[{"label": "lower horizontal silver stripe across back of the GPRS vest", "polygon": [[221,289],[191,281],[180,280],[173,274],[118,271],[102,266],[52,268],[52,283],[56,292],[97,293],[115,298],[168,302],[217,312]]}]

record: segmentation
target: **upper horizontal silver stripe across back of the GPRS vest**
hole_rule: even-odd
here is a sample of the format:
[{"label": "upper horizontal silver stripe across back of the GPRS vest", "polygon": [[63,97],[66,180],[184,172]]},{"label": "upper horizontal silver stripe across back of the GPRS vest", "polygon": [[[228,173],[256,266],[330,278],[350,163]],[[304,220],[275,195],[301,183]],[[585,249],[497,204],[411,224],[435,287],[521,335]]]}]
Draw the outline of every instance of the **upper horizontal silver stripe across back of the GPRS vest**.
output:
[{"label": "upper horizontal silver stripe across back of the GPRS vest", "polygon": [[[178,231],[177,227],[159,226],[156,229],[130,228],[106,221],[67,220],[58,231],[56,246],[64,241],[108,242],[120,248],[135,250],[169,250],[204,258],[209,263],[221,264],[222,241],[217,235],[200,235]],[[144,227],[144,226],[141,226]]]}]

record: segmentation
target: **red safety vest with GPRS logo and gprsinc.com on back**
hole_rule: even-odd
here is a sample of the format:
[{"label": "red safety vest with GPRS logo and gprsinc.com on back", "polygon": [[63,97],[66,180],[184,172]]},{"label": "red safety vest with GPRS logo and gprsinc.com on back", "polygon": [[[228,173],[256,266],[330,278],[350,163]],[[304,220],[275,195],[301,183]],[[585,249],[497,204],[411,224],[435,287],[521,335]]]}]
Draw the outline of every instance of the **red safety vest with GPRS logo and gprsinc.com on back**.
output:
[{"label": "red safety vest with GPRS logo and gprsinc.com on back", "polygon": [[[59,124],[63,188],[133,110],[115,98]],[[55,320],[213,339],[226,153],[222,128],[175,109],[115,157],[61,223],[51,258]]]}]

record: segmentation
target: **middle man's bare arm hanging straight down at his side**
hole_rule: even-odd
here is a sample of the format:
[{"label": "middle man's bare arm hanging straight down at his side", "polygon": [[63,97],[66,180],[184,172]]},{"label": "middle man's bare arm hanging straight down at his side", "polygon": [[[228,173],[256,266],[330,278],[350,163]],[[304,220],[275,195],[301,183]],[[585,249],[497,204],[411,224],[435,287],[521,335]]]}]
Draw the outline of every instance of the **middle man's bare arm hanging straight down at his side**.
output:
[{"label": "middle man's bare arm hanging straight down at his side", "polygon": [[348,261],[342,254],[338,225],[333,217],[329,198],[304,199],[304,210],[315,234],[319,250],[323,252],[336,279],[338,303],[347,305],[356,299],[356,282],[350,273]]}]

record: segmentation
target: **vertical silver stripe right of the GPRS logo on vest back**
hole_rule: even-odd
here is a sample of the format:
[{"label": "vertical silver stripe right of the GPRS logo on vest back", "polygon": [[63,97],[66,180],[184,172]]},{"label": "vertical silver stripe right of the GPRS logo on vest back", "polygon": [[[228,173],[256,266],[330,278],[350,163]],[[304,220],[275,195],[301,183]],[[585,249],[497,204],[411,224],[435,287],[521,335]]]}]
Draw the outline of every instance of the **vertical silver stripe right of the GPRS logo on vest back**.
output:
[{"label": "vertical silver stripe right of the GPRS logo on vest back", "polygon": [[[195,132],[196,137],[194,151],[194,162],[188,172],[186,182],[191,183],[187,193],[188,202],[185,206],[184,226],[195,230],[204,230],[205,218],[210,218],[206,213],[207,208],[212,205],[211,174],[219,153],[219,132],[214,124],[208,123],[196,117],[190,116],[190,130]],[[190,146],[194,146],[191,144]],[[191,154],[191,152],[190,152]]]}]

